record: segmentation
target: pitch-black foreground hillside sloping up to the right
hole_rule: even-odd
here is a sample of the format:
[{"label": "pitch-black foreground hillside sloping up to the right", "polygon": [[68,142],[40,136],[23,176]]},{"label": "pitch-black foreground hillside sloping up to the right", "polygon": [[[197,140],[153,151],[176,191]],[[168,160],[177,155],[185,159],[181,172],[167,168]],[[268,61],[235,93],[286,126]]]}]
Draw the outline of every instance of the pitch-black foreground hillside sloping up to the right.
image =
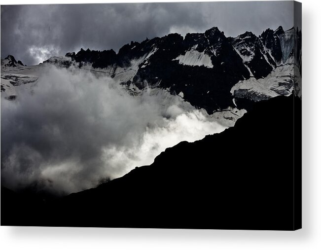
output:
[{"label": "pitch-black foreground hillside sloping up to the right", "polygon": [[256,103],[235,127],[181,142],[150,166],[61,199],[1,187],[1,225],[298,229],[301,135],[293,106],[299,111],[300,102]]}]

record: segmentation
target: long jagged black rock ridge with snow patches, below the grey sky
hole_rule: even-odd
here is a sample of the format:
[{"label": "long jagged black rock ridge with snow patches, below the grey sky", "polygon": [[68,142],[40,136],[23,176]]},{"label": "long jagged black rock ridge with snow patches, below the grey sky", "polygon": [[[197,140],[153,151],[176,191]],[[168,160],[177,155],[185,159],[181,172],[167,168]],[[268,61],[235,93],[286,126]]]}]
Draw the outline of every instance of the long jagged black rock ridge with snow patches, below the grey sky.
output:
[{"label": "long jagged black rock ridge with snow patches, below the grey sky", "polygon": [[[269,83],[263,83],[263,92],[237,86],[240,81],[253,82],[271,73],[276,75],[273,71],[285,64],[300,65],[300,56],[294,56],[300,55],[300,44],[300,33],[294,28],[267,29],[258,37],[251,32],[226,37],[214,27],[205,33],[188,33],[185,38],[170,34],[141,43],[132,41],[118,54],[113,50],[81,49],[67,53],[66,57],[80,68],[104,70],[129,88],[143,89],[148,85],[180,93],[193,106],[212,113],[235,107],[233,98],[260,101],[290,94],[291,86],[273,91],[275,86],[271,89]],[[286,77],[293,82],[293,73],[287,72]]]}]

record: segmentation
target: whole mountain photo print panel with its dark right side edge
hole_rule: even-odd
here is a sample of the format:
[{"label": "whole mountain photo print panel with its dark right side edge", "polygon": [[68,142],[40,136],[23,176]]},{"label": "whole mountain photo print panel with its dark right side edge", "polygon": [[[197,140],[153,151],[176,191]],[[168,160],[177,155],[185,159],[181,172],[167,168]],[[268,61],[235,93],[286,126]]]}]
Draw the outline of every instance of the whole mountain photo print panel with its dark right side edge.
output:
[{"label": "whole mountain photo print panel with its dark right side edge", "polygon": [[301,228],[301,3],[1,5],[1,225]]}]

